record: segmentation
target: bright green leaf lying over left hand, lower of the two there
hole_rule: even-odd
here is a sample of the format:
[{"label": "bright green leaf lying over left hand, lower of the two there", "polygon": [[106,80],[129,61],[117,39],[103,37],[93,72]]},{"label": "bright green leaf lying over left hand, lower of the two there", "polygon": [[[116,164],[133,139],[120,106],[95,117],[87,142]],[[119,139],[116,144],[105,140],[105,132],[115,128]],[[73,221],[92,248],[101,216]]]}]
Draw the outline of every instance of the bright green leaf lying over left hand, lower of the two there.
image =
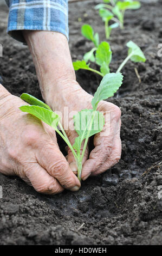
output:
[{"label": "bright green leaf lying over left hand, lower of the two there", "polygon": [[59,122],[59,115],[54,113],[53,111],[40,107],[40,106],[21,106],[20,107],[22,112],[27,112],[29,114],[34,115],[44,123],[50,125],[51,127],[54,127],[54,129],[57,128],[58,122]]}]

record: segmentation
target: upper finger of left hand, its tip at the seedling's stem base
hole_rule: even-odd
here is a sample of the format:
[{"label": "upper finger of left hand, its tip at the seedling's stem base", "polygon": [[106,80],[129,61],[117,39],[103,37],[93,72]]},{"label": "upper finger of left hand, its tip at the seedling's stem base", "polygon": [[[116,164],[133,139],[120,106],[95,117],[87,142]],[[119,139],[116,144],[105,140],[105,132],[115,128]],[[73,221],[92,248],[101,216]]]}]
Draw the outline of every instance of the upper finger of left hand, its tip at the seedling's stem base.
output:
[{"label": "upper finger of left hand, its tip at the seedling's stem base", "polygon": [[[41,147],[41,145],[40,145]],[[36,151],[38,163],[47,170],[47,172],[56,178],[60,184],[71,191],[77,191],[80,188],[80,181],[70,170],[65,157],[53,142],[44,143],[42,149]]]}]

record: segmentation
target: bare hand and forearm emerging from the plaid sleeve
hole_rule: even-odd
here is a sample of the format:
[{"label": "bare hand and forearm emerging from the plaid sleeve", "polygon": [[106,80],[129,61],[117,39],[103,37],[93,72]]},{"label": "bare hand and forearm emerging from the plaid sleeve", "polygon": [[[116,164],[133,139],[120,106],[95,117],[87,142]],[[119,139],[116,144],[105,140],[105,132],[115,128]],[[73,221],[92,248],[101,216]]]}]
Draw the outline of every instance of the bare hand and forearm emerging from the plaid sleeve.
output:
[{"label": "bare hand and forearm emerging from the plaid sleeve", "polygon": [[[74,112],[92,108],[92,95],[83,90],[76,82],[72,59],[66,37],[56,32],[24,31],[33,60],[36,66],[42,96],[53,111],[60,111],[63,120],[68,118],[65,108],[68,108],[69,123],[72,123]],[[88,72],[88,71],[87,71]],[[90,152],[88,147],[83,159],[82,179],[90,174],[96,175],[112,167],[120,159],[120,109],[112,103],[101,101],[98,110],[108,112],[110,120],[106,121],[106,131],[94,136],[95,148]],[[73,144],[77,133],[67,129],[62,123],[69,141]],[[104,132],[104,136],[103,135]],[[73,171],[77,170],[72,152],[68,149],[67,160]]]}]

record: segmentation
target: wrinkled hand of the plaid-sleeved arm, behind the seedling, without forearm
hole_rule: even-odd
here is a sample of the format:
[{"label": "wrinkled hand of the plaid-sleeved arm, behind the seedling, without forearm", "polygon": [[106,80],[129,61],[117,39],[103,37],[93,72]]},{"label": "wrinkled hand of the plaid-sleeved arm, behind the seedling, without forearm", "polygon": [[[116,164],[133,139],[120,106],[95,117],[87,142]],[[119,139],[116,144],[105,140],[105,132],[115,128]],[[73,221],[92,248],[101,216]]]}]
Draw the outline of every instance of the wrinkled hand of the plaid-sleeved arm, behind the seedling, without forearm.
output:
[{"label": "wrinkled hand of the plaid-sleeved arm, behind the seedling, without forearm", "polygon": [[[59,99],[57,96],[54,99],[53,109],[59,110],[63,113],[63,106],[68,107],[68,111],[81,111],[81,109],[92,108],[92,95],[83,90],[76,81],[69,81],[67,83],[62,81],[60,83],[61,95]],[[57,94],[58,95],[58,94]],[[121,126],[121,111],[120,108],[111,102],[101,101],[98,105],[98,111],[102,111],[109,120],[106,120],[103,131],[94,136],[95,148],[90,152],[88,159],[88,147],[83,159],[82,179],[85,180],[89,175],[97,175],[105,172],[105,170],[118,163],[121,156],[121,140],[120,140],[120,126]],[[72,122],[71,114],[69,121]],[[64,126],[64,124],[63,124]],[[73,145],[77,133],[72,130],[66,131],[69,141]],[[83,148],[83,147],[82,147]],[[72,154],[68,148],[67,160],[70,168],[75,171],[77,166]],[[75,172],[76,173],[76,172]]]}]

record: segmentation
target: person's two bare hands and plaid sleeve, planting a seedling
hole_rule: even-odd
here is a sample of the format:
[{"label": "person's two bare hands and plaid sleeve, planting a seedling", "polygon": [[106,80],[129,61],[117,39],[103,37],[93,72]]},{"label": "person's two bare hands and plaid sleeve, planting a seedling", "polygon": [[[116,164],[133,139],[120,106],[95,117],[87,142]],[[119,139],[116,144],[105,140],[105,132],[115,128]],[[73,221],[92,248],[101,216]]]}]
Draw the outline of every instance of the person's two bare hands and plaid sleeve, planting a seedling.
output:
[{"label": "person's two bare hands and plaid sleeve, planting a seedling", "polygon": [[[27,42],[43,99],[53,111],[61,112],[62,125],[73,144],[77,134],[72,125],[65,127],[67,124],[64,120],[71,124],[74,112],[92,108],[92,95],[76,82],[67,40],[68,1],[55,1],[55,4],[49,3],[48,7],[44,4],[46,1],[39,7],[35,4],[33,8],[25,5],[25,12],[21,1],[16,6],[13,1],[7,2],[10,4],[8,32],[15,39]],[[17,11],[13,11],[13,8]],[[40,15],[42,9],[45,16]],[[16,26],[15,23],[13,26],[15,21]],[[67,149],[66,160],[57,145],[55,131],[32,115],[22,113],[19,107],[24,104],[0,85],[0,172],[19,175],[42,193],[59,193],[63,188],[79,190],[80,181],[75,175],[77,166],[72,152]],[[104,172],[118,162],[121,155],[120,109],[112,103],[101,101],[98,110],[105,117],[108,113],[109,119],[106,119],[105,129],[94,136],[95,148],[89,158],[87,146],[82,180],[90,174]]]}]

